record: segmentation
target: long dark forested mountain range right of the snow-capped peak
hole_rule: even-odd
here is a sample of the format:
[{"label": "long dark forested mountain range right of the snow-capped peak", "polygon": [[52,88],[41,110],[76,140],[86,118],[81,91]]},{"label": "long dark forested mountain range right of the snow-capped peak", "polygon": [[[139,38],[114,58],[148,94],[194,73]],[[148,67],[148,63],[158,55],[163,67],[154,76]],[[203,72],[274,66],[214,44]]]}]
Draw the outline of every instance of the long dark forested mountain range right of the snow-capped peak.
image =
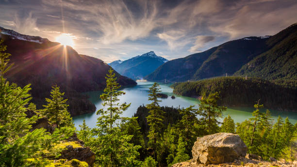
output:
[{"label": "long dark forested mountain range right of the snow-capped peak", "polygon": [[296,33],[297,24],[293,24],[273,36],[229,41],[210,50],[168,61],[146,79],[182,82],[226,73],[264,79],[293,79],[297,76]]}]

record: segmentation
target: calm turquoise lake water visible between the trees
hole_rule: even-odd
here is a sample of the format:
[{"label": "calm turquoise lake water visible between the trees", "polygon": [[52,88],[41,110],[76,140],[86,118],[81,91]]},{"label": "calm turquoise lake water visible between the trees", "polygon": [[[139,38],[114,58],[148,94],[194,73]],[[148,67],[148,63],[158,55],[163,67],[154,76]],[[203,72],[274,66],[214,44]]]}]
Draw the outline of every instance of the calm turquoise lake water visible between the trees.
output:
[{"label": "calm turquoise lake water visible between the trees", "polygon": [[[136,86],[123,88],[122,91],[126,92],[125,95],[119,97],[120,103],[130,103],[131,106],[123,113],[123,117],[132,117],[134,113],[136,113],[137,108],[140,105],[146,105],[149,103],[148,101],[148,88],[152,86],[152,82],[138,82]],[[162,93],[168,95],[167,99],[161,99],[162,102],[160,106],[174,106],[174,107],[189,107],[190,105],[195,105],[195,108],[198,108],[198,104],[200,103],[198,99],[189,98],[184,96],[175,95],[172,93],[173,89],[169,87],[169,84],[160,83]],[[102,108],[102,101],[99,96],[102,91],[93,91],[87,92],[90,96],[90,100],[95,104],[97,110]],[[171,99],[171,96],[174,95],[176,98]],[[231,107],[228,108],[227,111],[223,112],[223,117],[228,116],[228,114],[234,119],[234,122],[242,122],[250,117],[252,117],[252,112],[254,108],[252,106],[249,107]],[[261,109],[262,112],[265,112],[266,109]],[[276,110],[270,110],[271,116],[276,120],[280,115],[283,118],[288,117],[290,122],[295,124],[297,122],[297,113],[293,112],[282,112]],[[73,117],[74,124],[76,128],[79,128],[79,125],[82,124],[83,119],[85,119],[86,124],[90,128],[94,128],[97,122],[96,112],[89,113],[77,117]]]}]

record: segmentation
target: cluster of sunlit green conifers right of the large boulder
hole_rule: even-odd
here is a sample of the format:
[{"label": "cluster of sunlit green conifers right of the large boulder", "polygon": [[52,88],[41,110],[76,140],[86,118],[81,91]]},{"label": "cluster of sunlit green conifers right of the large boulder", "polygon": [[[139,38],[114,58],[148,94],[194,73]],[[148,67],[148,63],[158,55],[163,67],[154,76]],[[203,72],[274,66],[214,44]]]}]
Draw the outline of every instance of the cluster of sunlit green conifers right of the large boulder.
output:
[{"label": "cluster of sunlit green conifers right of the large boulder", "polygon": [[281,117],[273,125],[268,110],[266,113],[259,112],[263,105],[258,102],[254,107],[253,117],[237,123],[236,133],[246,143],[249,153],[260,155],[264,160],[269,160],[271,156],[277,159],[284,157],[288,147],[294,146],[292,139],[296,128],[288,118],[284,123]]}]

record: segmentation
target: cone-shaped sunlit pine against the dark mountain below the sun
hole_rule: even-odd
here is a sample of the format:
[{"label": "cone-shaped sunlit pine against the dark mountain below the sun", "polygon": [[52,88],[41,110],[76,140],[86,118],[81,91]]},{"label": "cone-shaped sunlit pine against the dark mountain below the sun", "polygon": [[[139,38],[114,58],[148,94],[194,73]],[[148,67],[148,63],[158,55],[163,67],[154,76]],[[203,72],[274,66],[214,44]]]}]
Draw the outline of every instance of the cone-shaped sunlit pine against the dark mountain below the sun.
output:
[{"label": "cone-shaped sunlit pine against the dark mountain below the sun", "polygon": [[64,100],[64,94],[60,92],[60,87],[52,86],[51,99],[46,98],[48,105],[43,105],[45,109],[43,109],[42,114],[48,118],[49,123],[56,125],[57,128],[74,126],[72,117],[67,111],[67,99]]}]

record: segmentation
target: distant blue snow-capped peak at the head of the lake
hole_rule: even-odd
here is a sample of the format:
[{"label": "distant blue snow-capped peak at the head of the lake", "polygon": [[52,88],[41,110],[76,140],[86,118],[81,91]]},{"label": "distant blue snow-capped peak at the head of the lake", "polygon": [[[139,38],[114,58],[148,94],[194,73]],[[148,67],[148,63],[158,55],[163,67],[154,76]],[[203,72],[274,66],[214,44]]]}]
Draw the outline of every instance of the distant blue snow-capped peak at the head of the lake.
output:
[{"label": "distant blue snow-capped peak at the head of the lake", "polygon": [[121,75],[132,79],[141,79],[167,61],[167,59],[157,56],[153,51],[150,51],[123,62],[119,60],[112,62],[111,67]]}]

